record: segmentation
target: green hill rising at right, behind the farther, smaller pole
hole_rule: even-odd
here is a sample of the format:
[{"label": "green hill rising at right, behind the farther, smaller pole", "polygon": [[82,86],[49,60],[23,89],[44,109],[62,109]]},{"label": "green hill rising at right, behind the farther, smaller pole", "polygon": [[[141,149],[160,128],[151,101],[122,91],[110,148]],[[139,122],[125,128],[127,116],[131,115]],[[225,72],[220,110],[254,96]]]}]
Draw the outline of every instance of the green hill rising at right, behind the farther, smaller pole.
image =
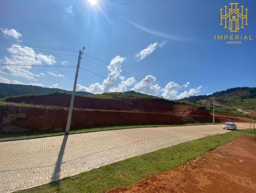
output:
[{"label": "green hill rising at right, behind the farther, smaller pole", "polygon": [[256,117],[256,88],[230,88],[211,95],[190,96],[179,101],[203,105],[207,109],[212,109],[213,96],[215,96],[217,111],[251,114]]}]

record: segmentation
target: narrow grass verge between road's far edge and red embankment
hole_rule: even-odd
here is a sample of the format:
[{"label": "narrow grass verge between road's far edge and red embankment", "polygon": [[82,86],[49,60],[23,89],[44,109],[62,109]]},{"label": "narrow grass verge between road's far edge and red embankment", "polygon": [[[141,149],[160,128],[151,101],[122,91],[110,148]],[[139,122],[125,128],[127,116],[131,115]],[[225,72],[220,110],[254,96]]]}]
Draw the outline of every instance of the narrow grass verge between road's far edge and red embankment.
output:
[{"label": "narrow grass verge between road's far edge and red embankment", "polygon": [[[92,128],[78,128],[70,130],[70,134],[79,134],[86,132],[104,131],[104,130],[118,130],[125,128],[142,128],[142,127],[175,127],[175,126],[190,126],[190,125],[210,125],[212,123],[187,123],[186,125],[125,125],[113,127],[92,127]],[[44,132],[24,132],[19,134],[0,134],[1,141],[12,141],[19,139],[35,139],[40,137],[52,137],[64,135],[62,131],[44,131]]]}]

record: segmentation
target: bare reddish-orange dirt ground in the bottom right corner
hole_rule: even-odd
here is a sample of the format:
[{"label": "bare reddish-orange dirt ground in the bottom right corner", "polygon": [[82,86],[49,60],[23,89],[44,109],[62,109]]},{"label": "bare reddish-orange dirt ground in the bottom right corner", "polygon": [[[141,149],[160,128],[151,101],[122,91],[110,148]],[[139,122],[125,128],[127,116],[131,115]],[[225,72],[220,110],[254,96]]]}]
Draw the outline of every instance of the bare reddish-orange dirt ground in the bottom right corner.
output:
[{"label": "bare reddish-orange dirt ground in the bottom right corner", "polygon": [[256,139],[241,137],[204,157],[110,192],[256,192]]}]

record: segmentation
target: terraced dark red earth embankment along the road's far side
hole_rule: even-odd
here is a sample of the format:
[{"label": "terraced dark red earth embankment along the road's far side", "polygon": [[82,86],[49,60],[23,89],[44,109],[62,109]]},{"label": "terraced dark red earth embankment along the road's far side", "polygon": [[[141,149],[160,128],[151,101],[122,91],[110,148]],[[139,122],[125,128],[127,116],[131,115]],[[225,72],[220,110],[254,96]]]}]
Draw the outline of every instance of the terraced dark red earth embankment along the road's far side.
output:
[{"label": "terraced dark red earth embankment along the road's far side", "polygon": [[[19,96],[6,98],[0,106],[0,132],[63,130],[67,122],[70,95]],[[216,114],[216,122],[248,121],[230,114]],[[111,125],[154,125],[210,123],[204,107],[161,98],[90,98],[76,96],[71,128]]]}]

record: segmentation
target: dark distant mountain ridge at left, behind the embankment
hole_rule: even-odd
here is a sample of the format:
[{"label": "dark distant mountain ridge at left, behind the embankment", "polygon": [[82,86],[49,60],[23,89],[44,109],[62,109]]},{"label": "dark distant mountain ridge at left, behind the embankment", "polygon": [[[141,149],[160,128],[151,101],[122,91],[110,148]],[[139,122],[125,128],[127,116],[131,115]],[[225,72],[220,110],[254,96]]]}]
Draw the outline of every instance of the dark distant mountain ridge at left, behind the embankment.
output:
[{"label": "dark distant mountain ridge at left, behind the embankment", "polygon": [[[31,86],[22,84],[5,84],[0,83],[0,98],[5,98],[9,96],[20,96],[20,95],[40,95],[53,92],[64,92],[70,93],[71,91],[66,91],[64,89],[58,88],[44,88],[41,86]],[[77,95],[92,95],[92,93],[77,91]]]}]

